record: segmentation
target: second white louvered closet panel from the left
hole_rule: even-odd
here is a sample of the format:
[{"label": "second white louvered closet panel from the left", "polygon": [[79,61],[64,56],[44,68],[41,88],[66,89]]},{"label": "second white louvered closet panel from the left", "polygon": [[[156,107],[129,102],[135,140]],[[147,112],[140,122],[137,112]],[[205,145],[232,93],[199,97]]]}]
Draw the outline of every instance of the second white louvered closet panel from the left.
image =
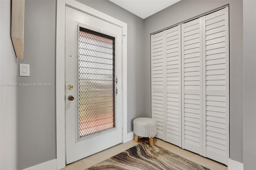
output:
[{"label": "second white louvered closet panel from the left", "polygon": [[166,34],[166,141],[181,147],[181,26]]}]

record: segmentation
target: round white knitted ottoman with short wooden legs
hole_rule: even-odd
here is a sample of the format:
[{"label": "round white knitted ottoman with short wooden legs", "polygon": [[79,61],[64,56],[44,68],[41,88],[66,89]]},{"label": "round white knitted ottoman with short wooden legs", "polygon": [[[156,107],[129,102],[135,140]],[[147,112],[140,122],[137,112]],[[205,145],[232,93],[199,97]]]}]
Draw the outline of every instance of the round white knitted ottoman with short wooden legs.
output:
[{"label": "round white knitted ottoman with short wooden legs", "polygon": [[133,121],[133,132],[136,135],[134,141],[140,137],[149,138],[150,146],[153,146],[153,138],[156,136],[156,121],[148,117],[139,117]]}]

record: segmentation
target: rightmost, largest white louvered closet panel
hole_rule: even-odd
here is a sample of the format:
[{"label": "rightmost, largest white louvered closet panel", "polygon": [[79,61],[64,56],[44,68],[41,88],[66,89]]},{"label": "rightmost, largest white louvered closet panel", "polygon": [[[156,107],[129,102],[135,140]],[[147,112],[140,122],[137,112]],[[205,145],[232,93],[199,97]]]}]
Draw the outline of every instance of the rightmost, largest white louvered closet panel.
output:
[{"label": "rightmost, largest white louvered closet panel", "polygon": [[228,7],[203,17],[203,112],[206,157],[229,157]]}]

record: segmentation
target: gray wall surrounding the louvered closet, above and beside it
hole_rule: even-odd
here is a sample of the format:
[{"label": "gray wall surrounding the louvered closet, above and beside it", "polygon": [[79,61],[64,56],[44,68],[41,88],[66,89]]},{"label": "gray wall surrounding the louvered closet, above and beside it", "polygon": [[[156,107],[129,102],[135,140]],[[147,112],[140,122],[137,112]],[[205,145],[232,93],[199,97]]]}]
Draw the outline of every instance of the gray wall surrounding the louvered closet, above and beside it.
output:
[{"label": "gray wall surrounding the louvered closet, above and beside it", "polygon": [[230,158],[243,162],[242,0],[181,0],[144,20],[144,112],[150,116],[150,34],[226,4],[230,6]]}]

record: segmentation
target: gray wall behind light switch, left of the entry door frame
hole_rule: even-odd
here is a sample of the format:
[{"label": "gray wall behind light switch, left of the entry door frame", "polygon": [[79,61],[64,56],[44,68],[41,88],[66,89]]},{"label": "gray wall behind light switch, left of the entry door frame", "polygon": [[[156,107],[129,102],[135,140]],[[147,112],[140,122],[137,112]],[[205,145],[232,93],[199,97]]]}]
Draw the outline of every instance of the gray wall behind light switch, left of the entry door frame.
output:
[{"label": "gray wall behind light switch, left of the entry door frame", "polygon": [[55,39],[56,1],[26,0],[24,59],[30,77],[18,83],[51,83],[18,87],[18,169],[56,158]]}]

